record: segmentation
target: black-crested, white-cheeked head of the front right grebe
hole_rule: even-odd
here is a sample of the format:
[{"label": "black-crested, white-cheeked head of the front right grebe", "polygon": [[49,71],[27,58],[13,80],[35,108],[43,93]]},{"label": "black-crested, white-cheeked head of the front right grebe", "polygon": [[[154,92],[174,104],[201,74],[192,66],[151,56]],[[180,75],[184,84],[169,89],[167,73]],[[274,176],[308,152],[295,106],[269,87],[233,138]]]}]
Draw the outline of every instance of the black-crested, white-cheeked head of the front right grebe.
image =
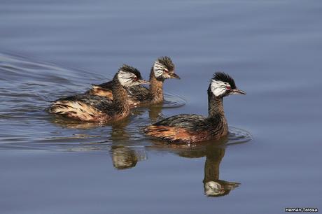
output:
[{"label": "black-crested, white-cheeked head of the front right grebe", "polygon": [[235,80],[228,74],[216,72],[210,83],[211,92],[216,97],[225,97],[230,94],[246,94],[246,92],[237,89]]}]

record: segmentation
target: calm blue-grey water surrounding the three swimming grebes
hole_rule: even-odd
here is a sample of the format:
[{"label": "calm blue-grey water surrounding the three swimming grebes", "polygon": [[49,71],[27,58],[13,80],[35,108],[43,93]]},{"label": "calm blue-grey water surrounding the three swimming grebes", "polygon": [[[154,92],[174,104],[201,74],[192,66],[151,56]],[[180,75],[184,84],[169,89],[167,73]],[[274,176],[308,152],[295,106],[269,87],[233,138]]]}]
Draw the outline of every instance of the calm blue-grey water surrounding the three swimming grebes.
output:
[{"label": "calm blue-grey water surrounding the three swimming grebes", "polygon": [[[1,1],[1,213],[284,213],[321,209],[320,1]],[[169,55],[165,107],[97,126],[46,113],[49,101],[143,76]],[[228,139],[169,145],[141,127],[207,115],[214,71]],[[251,140],[251,141],[250,141]],[[213,197],[211,197],[213,196]]]}]

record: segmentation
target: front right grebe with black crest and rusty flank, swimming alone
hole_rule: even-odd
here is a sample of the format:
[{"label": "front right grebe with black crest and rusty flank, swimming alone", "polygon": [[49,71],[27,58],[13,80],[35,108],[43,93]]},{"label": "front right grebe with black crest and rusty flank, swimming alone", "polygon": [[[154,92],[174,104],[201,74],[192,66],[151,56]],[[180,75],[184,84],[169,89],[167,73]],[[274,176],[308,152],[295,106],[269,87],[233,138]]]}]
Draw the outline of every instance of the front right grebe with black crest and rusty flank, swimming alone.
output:
[{"label": "front right grebe with black crest and rusty flank, swimming alone", "polygon": [[226,136],[228,124],[223,110],[223,97],[230,94],[246,92],[237,89],[235,81],[228,74],[217,72],[208,88],[208,117],[175,115],[151,124],[144,132],[149,136],[178,143],[196,143]]}]

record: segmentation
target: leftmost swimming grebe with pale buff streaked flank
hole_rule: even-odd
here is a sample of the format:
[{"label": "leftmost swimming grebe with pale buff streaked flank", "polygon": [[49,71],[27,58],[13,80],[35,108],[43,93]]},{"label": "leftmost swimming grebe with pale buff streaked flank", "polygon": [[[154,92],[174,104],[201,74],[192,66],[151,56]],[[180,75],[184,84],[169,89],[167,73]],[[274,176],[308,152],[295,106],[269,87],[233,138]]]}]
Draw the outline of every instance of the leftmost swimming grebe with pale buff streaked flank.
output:
[{"label": "leftmost swimming grebe with pale buff streaked flank", "polygon": [[146,83],[148,81],[142,80],[141,73],[137,69],[123,65],[111,82],[113,101],[106,97],[81,94],[54,101],[49,111],[89,122],[121,120],[130,115],[126,88]]}]

